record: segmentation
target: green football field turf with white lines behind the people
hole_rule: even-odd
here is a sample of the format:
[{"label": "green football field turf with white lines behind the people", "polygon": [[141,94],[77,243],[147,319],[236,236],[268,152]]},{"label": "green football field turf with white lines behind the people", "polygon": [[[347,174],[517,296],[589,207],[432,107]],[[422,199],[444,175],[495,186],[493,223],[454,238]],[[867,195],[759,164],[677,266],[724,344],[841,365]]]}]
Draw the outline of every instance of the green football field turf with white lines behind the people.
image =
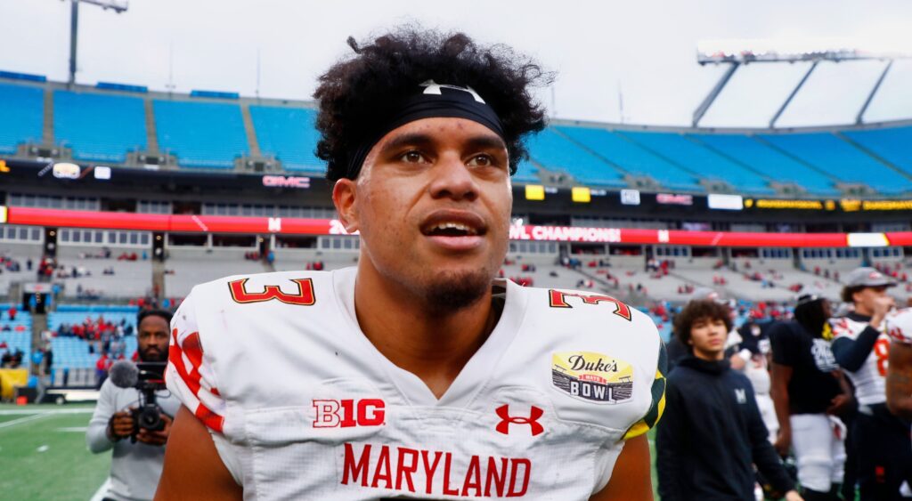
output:
[{"label": "green football field turf with white lines behind the people", "polygon": [[[88,501],[95,496],[108,478],[111,453],[88,452],[86,426],[93,408],[0,404],[0,497]],[[655,454],[652,442],[650,433]],[[652,478],[655,486],[655,469]]]}]

